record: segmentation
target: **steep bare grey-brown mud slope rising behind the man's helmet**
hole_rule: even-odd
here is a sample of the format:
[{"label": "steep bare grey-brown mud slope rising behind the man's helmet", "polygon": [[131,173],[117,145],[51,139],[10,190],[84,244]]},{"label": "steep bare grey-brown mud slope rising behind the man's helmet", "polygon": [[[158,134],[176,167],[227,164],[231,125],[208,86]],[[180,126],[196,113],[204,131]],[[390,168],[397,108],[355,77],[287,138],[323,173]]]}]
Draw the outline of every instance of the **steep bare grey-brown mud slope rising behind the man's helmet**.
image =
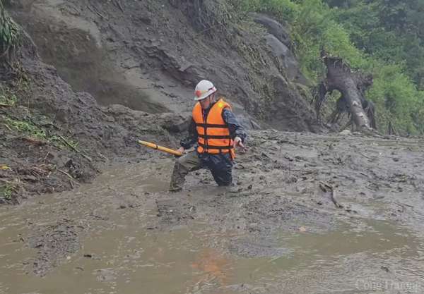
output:
[{"label": "steep bare grey-brown mud slope rising behind the man's helmet", "polygon": [[[11,13],[33,37],[43,61],[100,104],[187,111],[192,88],[208,78],[245,114],[265,121],[277,117],[283,130],[320,129],[307,97],[265,44],[264,28],[250,18],[228,18],[228,7],[205,2],[196,8],[189,1],[21,2],[13,2]],[[199,23],[204,17],[199,9],[211,10],[204,13],[216,20]],[[211,27],[204,32],[199,24]]]}]

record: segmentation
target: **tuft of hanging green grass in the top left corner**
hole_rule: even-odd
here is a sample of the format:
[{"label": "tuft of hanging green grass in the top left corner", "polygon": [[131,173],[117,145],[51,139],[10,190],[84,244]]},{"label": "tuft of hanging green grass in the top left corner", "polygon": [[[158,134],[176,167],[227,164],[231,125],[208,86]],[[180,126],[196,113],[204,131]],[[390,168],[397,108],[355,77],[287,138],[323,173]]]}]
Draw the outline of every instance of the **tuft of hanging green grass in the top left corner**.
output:
[{"label": "tuft of hanging green grass in the top left corner", "polygon": [[0,61],[10,60],[15,54],[20,42],[18,25],[4,10],[3,1],[0,0]]}]

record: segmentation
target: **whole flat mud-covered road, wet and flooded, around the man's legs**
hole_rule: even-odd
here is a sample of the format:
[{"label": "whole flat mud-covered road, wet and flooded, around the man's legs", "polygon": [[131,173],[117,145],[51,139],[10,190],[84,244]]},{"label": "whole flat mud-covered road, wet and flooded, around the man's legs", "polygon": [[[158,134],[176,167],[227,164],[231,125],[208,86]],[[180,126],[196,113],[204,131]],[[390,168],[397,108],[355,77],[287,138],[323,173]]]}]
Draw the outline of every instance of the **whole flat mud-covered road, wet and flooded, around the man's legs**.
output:
[{"label": "whole flat mud-covered road, wet and flooded, around the man's legs", "polygon": [[[150,151],[149,151],[150,152]],[[423,140],[255,131],[239,192],[173,158],[0,208],[0,293],[423,293]]]}]

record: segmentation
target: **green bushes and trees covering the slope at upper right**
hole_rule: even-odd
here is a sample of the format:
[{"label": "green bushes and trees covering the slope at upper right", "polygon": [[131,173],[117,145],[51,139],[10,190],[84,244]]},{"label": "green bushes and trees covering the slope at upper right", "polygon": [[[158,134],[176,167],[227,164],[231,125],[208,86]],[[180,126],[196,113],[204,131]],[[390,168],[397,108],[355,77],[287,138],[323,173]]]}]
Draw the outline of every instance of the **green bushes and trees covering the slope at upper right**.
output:
[{"label": "green bushes and trees covering the slope at upper right", "polygon": [[377,126],[424,134],[424,0],[232,0],[242,13],[268,13],[290,25],[304,75],[324,77],[321,49],[372,73],[367,99]]}]

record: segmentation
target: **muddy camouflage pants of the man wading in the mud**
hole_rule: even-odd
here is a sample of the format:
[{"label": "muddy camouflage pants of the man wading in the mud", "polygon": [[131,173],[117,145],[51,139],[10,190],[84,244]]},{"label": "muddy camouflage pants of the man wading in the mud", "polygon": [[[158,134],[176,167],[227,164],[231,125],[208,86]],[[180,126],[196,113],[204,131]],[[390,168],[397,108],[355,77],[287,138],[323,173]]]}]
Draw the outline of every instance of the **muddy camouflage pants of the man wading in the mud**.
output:
[{"label": "muddy camouflage pants of the man wading in the mud", "polygon": [[182,190],[190,171],[207,168],[220,186],[232,184],[232,160],[230,154],[198,154],[190,152],[177,159],[172,172],[170,191]]}]

